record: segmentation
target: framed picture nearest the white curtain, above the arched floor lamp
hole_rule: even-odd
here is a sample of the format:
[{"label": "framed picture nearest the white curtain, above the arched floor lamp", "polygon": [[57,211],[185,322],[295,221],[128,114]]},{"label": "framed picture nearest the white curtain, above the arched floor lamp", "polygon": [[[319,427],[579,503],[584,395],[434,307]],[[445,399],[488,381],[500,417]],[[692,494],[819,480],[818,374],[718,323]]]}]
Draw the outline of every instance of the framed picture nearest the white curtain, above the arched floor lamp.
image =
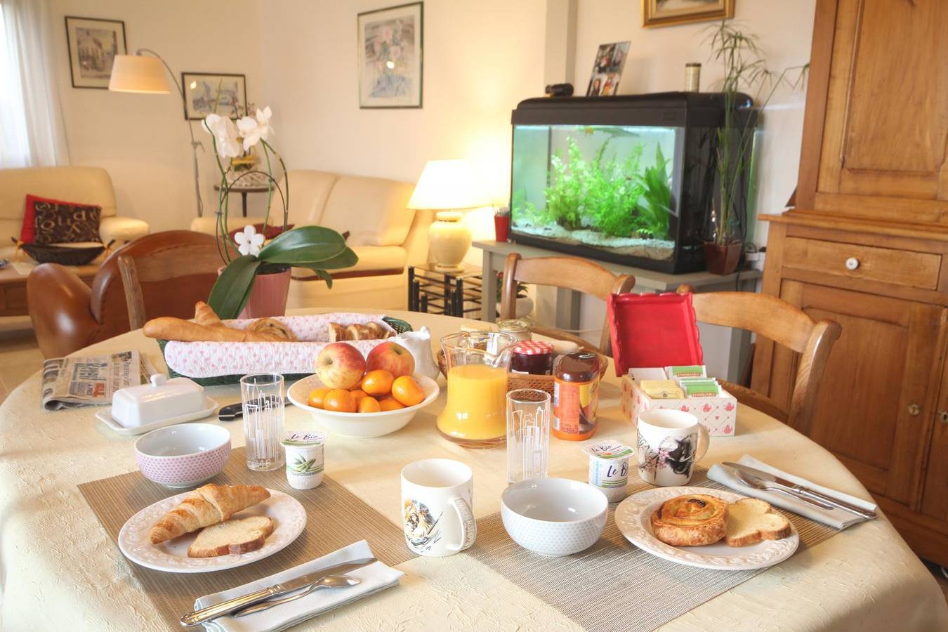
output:
[{"label": "framed picture nearest the white curtain, above the arched floor lamp", "polygon": [[125,23],[66,15],[65,40],[72,87],[107,90],[116,55],[128,51]]}]

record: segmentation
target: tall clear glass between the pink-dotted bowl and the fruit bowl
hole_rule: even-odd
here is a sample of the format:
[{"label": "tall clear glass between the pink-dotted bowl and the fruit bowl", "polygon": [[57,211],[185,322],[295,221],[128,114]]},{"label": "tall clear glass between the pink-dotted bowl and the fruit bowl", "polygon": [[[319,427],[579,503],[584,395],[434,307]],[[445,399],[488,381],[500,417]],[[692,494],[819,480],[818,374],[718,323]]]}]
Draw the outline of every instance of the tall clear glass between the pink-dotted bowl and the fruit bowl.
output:
[{"label": "tall clear glass between the pink-dotted bowl and the fruit bowl", "polygon": [[240,379],[244,404],[246,466],[251,470],[283,467],[283,375],[254,373]]}]

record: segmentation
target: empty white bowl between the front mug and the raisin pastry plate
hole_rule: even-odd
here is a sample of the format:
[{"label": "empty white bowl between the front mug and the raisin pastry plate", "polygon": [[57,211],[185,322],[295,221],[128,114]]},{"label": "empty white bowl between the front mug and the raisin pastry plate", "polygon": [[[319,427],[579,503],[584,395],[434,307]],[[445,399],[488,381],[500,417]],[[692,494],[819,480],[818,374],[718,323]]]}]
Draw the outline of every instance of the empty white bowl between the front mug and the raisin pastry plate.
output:
[{"label": "empty white bowl between the front mug and the raisin pastry plate", "polygon": [[606,495],[571,479],[528,479],[501,495],[501,519],[514,542],[540,555],[571,555],[596,543],[606,526]]}]

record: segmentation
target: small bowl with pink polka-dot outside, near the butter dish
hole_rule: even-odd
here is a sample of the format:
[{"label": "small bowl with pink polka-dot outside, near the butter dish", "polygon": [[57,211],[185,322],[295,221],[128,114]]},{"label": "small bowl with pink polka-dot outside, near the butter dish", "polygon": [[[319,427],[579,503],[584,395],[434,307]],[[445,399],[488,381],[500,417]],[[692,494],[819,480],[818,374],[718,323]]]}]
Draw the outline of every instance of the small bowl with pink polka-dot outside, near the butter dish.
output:
[{"label": "small bowl with pink polka-dot outside, near the butter dish", "polygon": [[167,425],[135,442],[138,469],[165,487],[194,487],[224,469],[230,433],[213,424]]}]

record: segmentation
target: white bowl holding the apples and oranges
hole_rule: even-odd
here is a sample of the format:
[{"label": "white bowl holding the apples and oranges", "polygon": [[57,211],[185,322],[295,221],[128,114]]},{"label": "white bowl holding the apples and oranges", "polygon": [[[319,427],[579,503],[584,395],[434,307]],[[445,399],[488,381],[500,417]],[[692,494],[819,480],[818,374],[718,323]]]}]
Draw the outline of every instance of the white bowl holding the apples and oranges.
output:
[{"label": "white bowl holding the apples and oranges", "polygon": [[421,404],[399,408],[398,410],[383,410],[381,412],[335,412],[323,410],[315,406],[307,406],[306,398],[314,388],[322,387],[319,376],[310,375],[302,378],[286,392],[290,402],[303,410],[309,410],[313,419],[322,428],[348,437],[381,437],[395,430],[401,430],[409,424],[419,410],[428,406],[438,398],[441,388],[438,383],[424,375],[414,375],[418,386],[425,391],[425,400]]}]

